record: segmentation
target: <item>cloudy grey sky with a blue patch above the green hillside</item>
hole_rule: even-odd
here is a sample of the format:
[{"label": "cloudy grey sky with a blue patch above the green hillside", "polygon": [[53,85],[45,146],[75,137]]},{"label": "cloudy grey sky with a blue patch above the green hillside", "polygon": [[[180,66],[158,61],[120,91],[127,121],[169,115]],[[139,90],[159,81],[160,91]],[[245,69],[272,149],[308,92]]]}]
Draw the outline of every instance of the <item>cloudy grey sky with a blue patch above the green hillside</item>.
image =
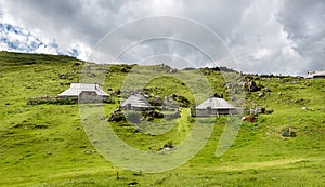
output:
[{"label": "cloudy grey sky with a blue patch above the green hillside", "polygon": [[0,24],[2,51],[255,74],[325,68],[323,0],[0,0]]}]

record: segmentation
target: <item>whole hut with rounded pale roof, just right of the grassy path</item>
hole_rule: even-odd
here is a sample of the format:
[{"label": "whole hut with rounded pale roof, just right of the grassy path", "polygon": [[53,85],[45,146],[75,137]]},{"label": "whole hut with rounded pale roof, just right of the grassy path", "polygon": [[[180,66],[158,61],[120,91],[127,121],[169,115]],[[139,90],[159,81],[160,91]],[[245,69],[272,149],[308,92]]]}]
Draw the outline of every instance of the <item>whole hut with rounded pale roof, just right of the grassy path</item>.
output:
[{"label": "whole hut with rounded pale roof, just right of the grassy path", "polygon": [[223,98],[210,97],[196,107],[196,116],[232,115],[236,108]]}]

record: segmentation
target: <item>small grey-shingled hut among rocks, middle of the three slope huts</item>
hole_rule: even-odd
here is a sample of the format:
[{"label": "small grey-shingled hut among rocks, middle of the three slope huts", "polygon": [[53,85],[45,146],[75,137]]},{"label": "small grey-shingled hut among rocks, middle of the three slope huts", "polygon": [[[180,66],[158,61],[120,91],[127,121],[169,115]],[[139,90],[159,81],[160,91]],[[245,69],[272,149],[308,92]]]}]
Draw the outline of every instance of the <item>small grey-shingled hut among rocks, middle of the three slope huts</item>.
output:
[{"label": "small grey-shingled hut among rocks, middle of the three slope huts", "polygon": [[152,105],[142,94],[133,94],[121,104],[121,107],[125,109],[144,109],[151,108]]}]

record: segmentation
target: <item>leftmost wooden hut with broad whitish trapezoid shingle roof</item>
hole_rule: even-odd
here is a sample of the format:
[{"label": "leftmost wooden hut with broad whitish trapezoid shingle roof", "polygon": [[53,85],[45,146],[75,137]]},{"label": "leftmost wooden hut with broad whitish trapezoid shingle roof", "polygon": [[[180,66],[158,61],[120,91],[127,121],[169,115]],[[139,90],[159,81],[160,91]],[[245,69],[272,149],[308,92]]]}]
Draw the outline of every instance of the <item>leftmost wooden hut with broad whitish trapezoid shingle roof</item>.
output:
[{"label": "leftmost wooden hut with broad whitish trapezoid shingle roof", "polygon": [[99,84],[94,83],[72,83],[70,88],[57,96],[61,99],[73,99],[82,103],[105,102],[109,95]]}]

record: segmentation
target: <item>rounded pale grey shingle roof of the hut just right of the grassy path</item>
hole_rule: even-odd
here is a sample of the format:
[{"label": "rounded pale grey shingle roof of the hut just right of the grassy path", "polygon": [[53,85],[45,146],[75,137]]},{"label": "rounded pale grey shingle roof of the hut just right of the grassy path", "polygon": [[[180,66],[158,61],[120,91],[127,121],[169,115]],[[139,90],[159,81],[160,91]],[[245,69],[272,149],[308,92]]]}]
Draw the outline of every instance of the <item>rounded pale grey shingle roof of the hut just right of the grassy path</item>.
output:
[{"label": "rounded pale grey shingle roof of the hut just right of the grassy path", "polygon": [[227,103],[223,98],[211,97],[206,99],[200,105],[198,105],[196,109],[207,109],[208,107],[211,107],[211,109],[234,109],[235,108],[232,104]]}]

